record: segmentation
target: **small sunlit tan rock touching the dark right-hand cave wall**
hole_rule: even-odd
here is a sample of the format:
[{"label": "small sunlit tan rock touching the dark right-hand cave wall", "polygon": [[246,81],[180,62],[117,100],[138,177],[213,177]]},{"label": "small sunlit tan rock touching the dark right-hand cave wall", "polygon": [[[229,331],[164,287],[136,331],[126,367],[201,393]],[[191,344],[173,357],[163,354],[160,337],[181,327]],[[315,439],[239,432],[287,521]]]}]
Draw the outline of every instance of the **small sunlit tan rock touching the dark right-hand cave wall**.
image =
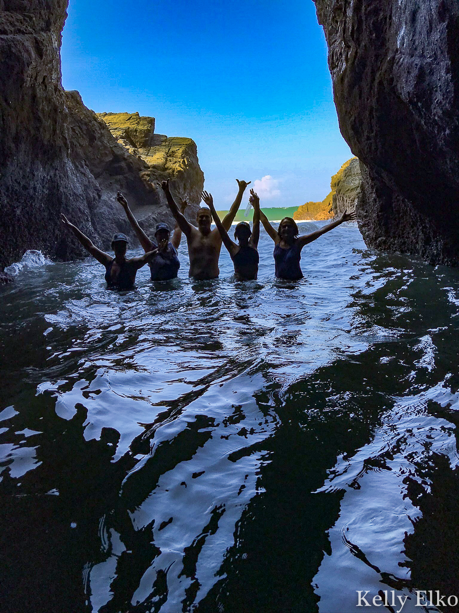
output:
[{"label": "small sunlit tan rock touching the dark right-hand cave wall", "polygon": [[334,216],[341,217],[345,211],[354,213],[362,200],[362,174],[359,160],[357,158],[348,159],[333,175],[330,186]]}]

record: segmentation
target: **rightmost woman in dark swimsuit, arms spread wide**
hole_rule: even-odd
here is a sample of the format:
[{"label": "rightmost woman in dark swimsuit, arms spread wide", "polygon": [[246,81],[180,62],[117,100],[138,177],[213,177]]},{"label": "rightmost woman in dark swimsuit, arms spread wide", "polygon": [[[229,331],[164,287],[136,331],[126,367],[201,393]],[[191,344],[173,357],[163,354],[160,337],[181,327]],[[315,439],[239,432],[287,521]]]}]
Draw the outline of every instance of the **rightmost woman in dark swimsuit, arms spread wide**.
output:
[{"label": "rightmost woman in dark swimsuit, arms spread wide", "polygon": [[[255,192],[251,190],[252,196],[255,196]],[[277,230],[271,226],[268,218],[260,210],[260,220],[266,230],[267,234],[274,240],[274,262],[275,262],[275,275],[278,279],[288,279],[296,281],[303,278],[303,273],[300,267],[301,249],[312,243],[313,240],[319,238],[326,232],[330,232],[335,227],[345,221],[354,221],[356,219],[356,213],[346,213],[344,211],[340,219],[332,221],[327,226],[321,227],[321,229],[311,232],[311,234],[304,234],[299,236],[299,229],[296,222],[291,217],[284,217],[279,224]]]}]

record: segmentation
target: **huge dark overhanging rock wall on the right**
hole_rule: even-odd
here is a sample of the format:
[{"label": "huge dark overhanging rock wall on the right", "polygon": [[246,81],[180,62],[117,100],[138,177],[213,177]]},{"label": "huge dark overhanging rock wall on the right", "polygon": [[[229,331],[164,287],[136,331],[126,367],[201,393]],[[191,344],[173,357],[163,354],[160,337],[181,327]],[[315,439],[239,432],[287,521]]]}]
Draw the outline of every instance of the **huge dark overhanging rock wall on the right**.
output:
[{"label": "huge dark overhanging rock wall on the right", "polygon": [[315,0],[367,245],[459,264],[459,3]]}]

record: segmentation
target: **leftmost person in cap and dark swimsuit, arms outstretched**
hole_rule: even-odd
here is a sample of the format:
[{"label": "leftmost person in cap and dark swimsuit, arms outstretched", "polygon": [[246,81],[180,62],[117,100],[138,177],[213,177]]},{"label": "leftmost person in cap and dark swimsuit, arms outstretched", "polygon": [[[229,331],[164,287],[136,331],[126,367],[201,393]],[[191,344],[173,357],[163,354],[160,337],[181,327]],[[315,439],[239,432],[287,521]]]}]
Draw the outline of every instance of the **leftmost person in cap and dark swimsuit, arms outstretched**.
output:
[{"label": "leftmost person in cap and dark swimsuit, arms outstretched", "polygon": [[167,247],[167,243],[161,243],[156,249],[141,257],[126,259],[128,240],[127,236],[120,232],[114,235],[111,242],[111,248],[115,254],[114,257],[111,257],[110,254],[97,248],[81,230],[70,223],[69,219],[67,219],[63,213],[61,214],[61,219],[64,226],[72,230],[73,234],[75,234],[86,251],[88,251],[92,257],[95,257],[100,264],[105,266],[105,281],[107,286],[111,288],[132,289],[135,283],[135,275],[139,268],[148,264],[158,251]]}]

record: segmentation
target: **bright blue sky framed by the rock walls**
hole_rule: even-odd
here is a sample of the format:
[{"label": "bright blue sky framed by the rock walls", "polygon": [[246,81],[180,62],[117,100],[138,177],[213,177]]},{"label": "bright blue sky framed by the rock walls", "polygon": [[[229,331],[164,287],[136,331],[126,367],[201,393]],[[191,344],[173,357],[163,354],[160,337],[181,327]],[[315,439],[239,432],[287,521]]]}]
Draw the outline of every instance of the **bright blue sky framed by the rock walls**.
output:
[{"label": "bright blue sky framed by the rock walls", "polygon": [[96,112],[195,140],[217,208],[237,177],[266,207],[322,200],[352,154],[312,0],[70,0],[62,83]]}]

